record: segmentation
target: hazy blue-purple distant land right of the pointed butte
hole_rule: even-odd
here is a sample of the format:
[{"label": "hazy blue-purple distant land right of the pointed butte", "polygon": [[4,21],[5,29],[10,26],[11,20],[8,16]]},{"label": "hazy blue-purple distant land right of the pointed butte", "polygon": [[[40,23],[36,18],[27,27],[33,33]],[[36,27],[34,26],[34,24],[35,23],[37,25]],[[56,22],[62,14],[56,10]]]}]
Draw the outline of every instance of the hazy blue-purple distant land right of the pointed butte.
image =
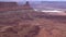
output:
[{"label": "hazy blue-purple distant land right of the pointed butte", "polygon": [[66,9],[66,1],[34,1],[30,2],[33,8],[55,8],[55,9]]}]

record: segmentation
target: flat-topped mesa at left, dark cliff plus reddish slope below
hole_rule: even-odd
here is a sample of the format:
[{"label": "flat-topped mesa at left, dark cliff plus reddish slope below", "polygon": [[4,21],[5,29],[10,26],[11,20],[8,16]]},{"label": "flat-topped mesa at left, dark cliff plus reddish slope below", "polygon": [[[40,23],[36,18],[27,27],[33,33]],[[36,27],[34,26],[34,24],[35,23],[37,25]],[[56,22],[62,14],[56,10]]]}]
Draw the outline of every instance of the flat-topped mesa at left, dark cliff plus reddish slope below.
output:
[{"label": "flat-topped mesa at left, dark cliff plus reddish slope below", "polygon": [[0,2],[0,11],[13,11],[18,10],[16,2]]}]

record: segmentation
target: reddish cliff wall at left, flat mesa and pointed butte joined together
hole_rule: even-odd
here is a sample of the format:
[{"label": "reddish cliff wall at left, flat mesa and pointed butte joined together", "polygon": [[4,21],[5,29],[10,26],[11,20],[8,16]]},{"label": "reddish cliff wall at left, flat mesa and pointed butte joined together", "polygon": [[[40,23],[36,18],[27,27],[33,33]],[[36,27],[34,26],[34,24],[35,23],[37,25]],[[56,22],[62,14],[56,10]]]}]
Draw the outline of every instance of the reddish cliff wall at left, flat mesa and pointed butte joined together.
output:
[{"label": "reddish cliff wall at left, flat mesa and pointed butte joined together", "polygon": [[0,11],[31,10],[29,2],[19,5],[16,2],[0,2]]}]

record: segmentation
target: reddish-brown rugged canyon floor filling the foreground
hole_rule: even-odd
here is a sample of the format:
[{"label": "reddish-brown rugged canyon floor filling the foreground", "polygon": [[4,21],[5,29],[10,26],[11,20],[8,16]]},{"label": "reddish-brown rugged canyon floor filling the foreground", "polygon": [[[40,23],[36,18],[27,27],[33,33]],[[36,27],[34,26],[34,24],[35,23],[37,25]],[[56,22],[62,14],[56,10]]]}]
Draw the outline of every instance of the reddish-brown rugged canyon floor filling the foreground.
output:
[{"label": "reddish-brown rugged canyon floor filling the foreground", "polygon": [[0,12],[0,37],[66,37],[66,16],[28,10]]}]

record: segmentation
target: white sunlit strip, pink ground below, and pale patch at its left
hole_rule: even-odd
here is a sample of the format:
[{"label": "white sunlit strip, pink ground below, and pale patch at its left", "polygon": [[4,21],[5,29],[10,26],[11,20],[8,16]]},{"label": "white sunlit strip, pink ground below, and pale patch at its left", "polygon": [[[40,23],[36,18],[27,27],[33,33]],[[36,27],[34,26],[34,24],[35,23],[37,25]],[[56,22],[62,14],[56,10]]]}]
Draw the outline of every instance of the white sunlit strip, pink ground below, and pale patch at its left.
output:
[{"label": "white sunlit strip, pink ground below, and pale patch at its left", "polygon": [[48,15],[66,15],[65,11],[59,11],[59,10],[42,10],[42,11],[40,11],[40,10],[34,9],[34,11],[44,12]]}]

